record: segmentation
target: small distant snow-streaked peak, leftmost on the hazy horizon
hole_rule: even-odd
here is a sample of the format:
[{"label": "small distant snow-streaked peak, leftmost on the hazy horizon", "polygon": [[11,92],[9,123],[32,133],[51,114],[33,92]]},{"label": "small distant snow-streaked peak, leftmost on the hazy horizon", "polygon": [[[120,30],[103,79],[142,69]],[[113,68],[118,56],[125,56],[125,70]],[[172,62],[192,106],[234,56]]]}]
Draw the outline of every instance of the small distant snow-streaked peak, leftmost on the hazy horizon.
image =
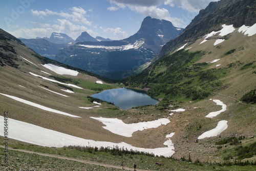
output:
[{"label": "small distant snow-streaked peak, leftmost on the hazy horizon", "polygon": [[48,37],[44,37],[44,39],[53,42],[54,44],[68,44],[70,42],[73,42],[74,40],[68,36],[67,34],[64,33],[56,33],[53,32],[50,36],[50,38]]}]

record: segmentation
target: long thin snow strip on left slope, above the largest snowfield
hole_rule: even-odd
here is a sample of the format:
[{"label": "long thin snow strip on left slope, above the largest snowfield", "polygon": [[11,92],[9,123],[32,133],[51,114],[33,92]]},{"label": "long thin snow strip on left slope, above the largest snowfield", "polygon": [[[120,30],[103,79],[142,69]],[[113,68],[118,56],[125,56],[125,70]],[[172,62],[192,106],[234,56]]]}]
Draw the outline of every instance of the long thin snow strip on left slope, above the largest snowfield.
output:
[{"label": "long thin snow strip on left slope, above the largest snowfield", "polygon": [[[0,93],[0,94],[2,94],[2,93]],[[6,97],[9,97],[11,99],[14,99],[16,101],[19,101],[19,102],[22,102],[22,103],[34,106],[35,108],[39,108],[39,109],[45,110],[45,111],[49,111],[49,112],[53,112],[53,113],[57,113],[57,114],[61,114],[61,115],[66,115],[66,116],[80,118],[80,116],[71,115],[71,114],[68,114],[66,112],[61,112],[61,111],[57,111],[55,109],[47,108],[46,106],[43,106],[43,105],[31,102],[31,101],[28,101],[28,100],[24,100],[22,98],[18,98],[18,97],[15,97],[15,96],[10,96],[10,95],[7,95],[7,94],[2,94],[2,95],[6,96]]]}]

